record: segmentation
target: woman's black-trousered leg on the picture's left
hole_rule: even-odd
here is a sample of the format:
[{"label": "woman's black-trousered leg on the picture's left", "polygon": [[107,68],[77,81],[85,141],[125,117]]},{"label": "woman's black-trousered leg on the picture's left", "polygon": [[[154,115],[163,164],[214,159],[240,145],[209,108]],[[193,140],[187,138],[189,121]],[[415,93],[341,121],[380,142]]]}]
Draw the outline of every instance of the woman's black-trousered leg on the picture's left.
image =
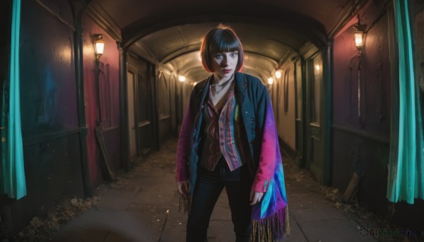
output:
[{"label": "woman's black-trousered leg on the picture's left", "polygon": [[199,167],[187,220],[187,242],[207,241],[209,220],[223,187],[219,174]]}]

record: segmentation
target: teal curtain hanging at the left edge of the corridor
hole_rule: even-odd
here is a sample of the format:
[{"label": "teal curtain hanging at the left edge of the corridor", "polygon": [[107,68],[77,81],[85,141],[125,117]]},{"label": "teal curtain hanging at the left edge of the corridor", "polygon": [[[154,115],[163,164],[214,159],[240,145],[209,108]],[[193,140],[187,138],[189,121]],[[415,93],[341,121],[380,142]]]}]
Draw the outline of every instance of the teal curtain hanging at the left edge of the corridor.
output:
[{"label": "teal curtain hanging at the left edge of the corridor", "polygon": [[1,115],[0,189],[2,193],[6,193],[10,198],[16,199],[26,195],[22,133],[20,131],[19,31],[20,0],[14,0],[12,8],[10,79],[4,85]]}]

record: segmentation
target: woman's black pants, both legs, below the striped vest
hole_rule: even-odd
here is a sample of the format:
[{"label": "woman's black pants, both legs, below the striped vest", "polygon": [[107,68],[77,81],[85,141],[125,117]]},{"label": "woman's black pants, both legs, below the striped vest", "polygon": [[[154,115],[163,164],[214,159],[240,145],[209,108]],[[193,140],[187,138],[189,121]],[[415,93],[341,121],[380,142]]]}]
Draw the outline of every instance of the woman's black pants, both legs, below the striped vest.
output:
[{"label": "woman's black pants, both legs, below the striped vest", "polygon": [[222,158],[214,171],[199,167],[192,209],[187,221],[187,242],[207,241],[213,207],[224,187],[230,203],[236,241],[249,241],[252,226],[250,222],[252,208],[249,205],[252,179],[246,165],[231,172]]}]

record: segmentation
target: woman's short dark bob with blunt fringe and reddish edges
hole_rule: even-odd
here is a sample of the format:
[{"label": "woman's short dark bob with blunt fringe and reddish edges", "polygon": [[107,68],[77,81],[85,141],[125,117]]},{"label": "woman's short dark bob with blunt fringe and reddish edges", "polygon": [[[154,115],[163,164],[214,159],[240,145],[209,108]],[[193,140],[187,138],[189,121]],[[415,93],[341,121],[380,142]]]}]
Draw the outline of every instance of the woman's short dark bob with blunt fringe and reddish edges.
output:
[{"label": "woman's short dark bob with blunt fringe and reddish edges", "polygon": [[238,61],[237,66],[235,66],[235,72],[240,72],[245,56],[242,42],[240,42],[232,28],[225,25],[218,25],[217,28],[210,30],[203,42],[201,42],[201,63],[206,71],[214,72],[215,70],[213,70],[211,63],[213,54],[236,51],[238,52]]}]

